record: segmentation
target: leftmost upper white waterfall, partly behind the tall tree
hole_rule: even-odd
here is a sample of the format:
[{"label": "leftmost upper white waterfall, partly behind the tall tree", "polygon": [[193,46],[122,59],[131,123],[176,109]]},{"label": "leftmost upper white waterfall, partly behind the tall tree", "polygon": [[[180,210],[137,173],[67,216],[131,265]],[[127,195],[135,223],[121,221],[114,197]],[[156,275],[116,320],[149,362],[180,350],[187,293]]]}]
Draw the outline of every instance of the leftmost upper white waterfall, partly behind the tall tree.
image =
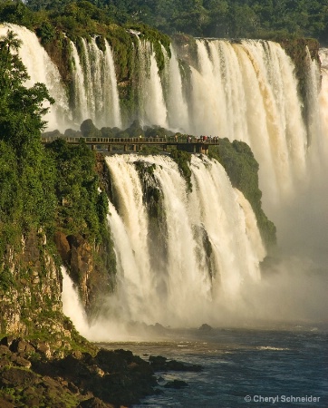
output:
[{"label": "leftmost upper white waterfall, partly behind the tall tree", "polygon": [[67,123],[71,120],[71,113],[69,112],[69,103],[58,68],[44,51],[34,33],[23,26],[0,24],[1,36],[5,35],[8,30],[13,31],[22,42],[18,54],[30,76],[26,86],[33,86],[34,83],[44,83],[55,100],[54,105],[44,117],[44,120],[48,122],[48,128],[66,129]]}]

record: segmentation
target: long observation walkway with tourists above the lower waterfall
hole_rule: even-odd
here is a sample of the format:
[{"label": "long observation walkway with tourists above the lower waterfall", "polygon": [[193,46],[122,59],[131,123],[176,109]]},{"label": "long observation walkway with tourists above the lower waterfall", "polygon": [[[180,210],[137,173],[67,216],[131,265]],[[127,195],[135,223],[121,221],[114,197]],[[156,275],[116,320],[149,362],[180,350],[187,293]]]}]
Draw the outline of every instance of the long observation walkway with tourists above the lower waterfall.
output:
[{"label": "long observation walkway with tourists above the lower waterfall", "polygon": [[98,137],[72,137],[72,136],[58,136],[58,135],[44,135],[42,142],[51,143],[57,139],[63,139],[67,143],[78,144],[82,139],[86,144],[91,145],[92,150],[96,150],[97,146],[102,146],[103,149],[115,153],[113,147],[121,147],[121,150],[126,153],[135,153],[141,151],[143,146],[160,146],[163,151],[167,151],[168,146],[176,146],[178,151],[188,151],[189,153],[207,154],[208,146],[218,145],[219,139],[206,138],[201,136],[199,138],[186,138],[170,136],[167,138],[98,138]]}]

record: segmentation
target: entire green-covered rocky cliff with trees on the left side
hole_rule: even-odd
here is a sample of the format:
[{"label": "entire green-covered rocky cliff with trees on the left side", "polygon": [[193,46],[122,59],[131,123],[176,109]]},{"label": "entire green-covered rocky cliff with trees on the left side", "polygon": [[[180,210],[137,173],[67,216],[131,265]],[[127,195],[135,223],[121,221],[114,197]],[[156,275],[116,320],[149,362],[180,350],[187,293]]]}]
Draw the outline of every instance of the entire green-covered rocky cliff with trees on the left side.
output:
[{"label": "entire green-covered rocky cliff with trees on the left side", "polygon": [[[72,267],[79,283],[83,274],[83,300],[91,308],[92,294],[114,286],[107,198],[96,157],[84,144],[57,141],[44,149],[43,114],[53,100],[41,83],[24,86],[19,45],[11,32],[0,39],[0,331],[68,345],[72,324],[62,314],[59,266]],[[89,279],[88,272],[94,272]]]}]

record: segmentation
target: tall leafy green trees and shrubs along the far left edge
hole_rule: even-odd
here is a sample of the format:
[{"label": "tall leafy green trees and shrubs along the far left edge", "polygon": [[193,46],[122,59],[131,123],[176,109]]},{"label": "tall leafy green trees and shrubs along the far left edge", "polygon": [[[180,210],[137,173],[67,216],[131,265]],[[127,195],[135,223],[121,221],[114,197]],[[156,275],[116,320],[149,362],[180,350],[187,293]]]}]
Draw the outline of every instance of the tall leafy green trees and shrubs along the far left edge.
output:
[{"label": "tall leafy green trees and shrubs along the far left edge", "polygon": [[42,83],[28,79],[12,32],[0,39],[0,233],[5,245],[19,245],[29,228],[50,225],[54,210],[52,165],[40,142],[44,102],[52,103]]}]

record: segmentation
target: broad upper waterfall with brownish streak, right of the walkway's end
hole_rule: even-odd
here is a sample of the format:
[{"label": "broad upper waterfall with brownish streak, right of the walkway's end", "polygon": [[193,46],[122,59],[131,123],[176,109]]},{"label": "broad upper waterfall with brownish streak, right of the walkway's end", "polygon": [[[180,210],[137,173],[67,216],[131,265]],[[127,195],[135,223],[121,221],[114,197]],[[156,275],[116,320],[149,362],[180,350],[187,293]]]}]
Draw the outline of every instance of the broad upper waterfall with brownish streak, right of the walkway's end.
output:
[{"label": "broad upper waterfall with brownish streak, right of the walkway's end", "polygon": [[272,205],[288,195],[296,175],[304,175],[306,130],[294,66],[279,44],[197,44],[199,70],[192,71],[197,131],[246,141],[260,163],[264,200]]}]

